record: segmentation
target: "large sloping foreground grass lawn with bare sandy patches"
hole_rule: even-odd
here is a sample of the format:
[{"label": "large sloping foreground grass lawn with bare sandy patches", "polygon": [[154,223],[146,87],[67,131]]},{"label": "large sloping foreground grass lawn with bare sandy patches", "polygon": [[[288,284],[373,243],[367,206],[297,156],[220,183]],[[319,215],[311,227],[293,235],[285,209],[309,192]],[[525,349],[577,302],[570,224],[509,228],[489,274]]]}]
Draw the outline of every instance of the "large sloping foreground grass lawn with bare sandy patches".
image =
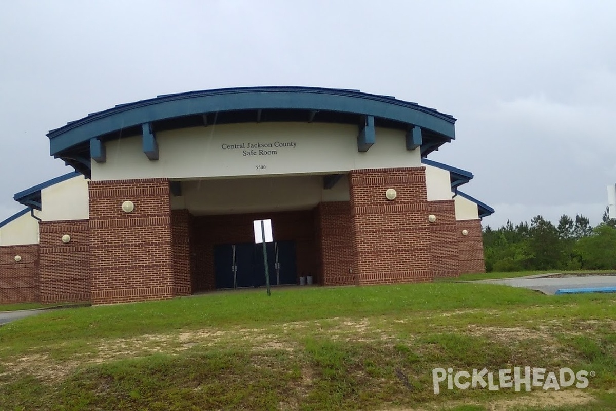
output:
[{"label": "large sloping foreground grass lawn with bare sandy patches", "polygon": [[[51,311],[0,327],[0,409],[616,409],[615,303],[439,282]],[[434,394],[433,368],[516,366],[596,375]]]}]

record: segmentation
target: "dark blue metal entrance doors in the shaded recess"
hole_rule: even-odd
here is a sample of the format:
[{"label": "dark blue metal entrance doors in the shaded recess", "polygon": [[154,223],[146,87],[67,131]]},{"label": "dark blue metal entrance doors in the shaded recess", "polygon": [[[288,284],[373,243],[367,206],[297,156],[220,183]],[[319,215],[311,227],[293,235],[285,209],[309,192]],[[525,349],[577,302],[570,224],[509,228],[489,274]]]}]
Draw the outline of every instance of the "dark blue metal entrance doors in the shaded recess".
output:
[{"label": "dark blue metal entrance doors in the shaded recess", "polygon": [[[269,280],[272,285],[295,284],[297,270],[294,242],[267,243]],[[221,244],[214,246],[216,288],[265,285],[262,244]]]}]

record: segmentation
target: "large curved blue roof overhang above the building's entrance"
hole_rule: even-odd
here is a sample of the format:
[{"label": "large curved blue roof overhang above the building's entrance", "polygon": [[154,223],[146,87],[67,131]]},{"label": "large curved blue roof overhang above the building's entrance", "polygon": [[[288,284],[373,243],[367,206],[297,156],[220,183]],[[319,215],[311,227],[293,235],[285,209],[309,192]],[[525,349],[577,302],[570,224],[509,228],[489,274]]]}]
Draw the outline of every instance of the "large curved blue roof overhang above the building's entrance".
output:
[{"label": "large curved blue roof overhang above the building's entrance", "polygon": [[[102,156],[98,140],[190,126],[264,121],[368,124],[410,132],[421,128],[423,156],[455,139],[453,116],[394,97],[319,87],[238,87],[192,91],[121,104],[49,131],[51,155],[89,176],[90,159]],[[91,153],[92,147],[96,153]],[[154,154],[153,154],[154,155]],[[148,156],[149,157],[149,156]]]}]

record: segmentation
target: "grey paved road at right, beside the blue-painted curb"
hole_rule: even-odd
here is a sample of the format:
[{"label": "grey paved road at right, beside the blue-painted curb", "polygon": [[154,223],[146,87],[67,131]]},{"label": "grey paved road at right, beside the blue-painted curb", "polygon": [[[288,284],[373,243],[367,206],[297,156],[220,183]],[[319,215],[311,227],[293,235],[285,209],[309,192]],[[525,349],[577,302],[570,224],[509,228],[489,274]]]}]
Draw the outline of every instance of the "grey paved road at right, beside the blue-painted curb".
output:
[{"label": "grey paved road at right, beside the blue-painted curb", "polygon": [[480,280],[479,282],[529,288],[552,295],[561,288],[616,287],[616,275],[584,275],[582,277],[559,277],[555,279],[531,276],[517,279]]}]

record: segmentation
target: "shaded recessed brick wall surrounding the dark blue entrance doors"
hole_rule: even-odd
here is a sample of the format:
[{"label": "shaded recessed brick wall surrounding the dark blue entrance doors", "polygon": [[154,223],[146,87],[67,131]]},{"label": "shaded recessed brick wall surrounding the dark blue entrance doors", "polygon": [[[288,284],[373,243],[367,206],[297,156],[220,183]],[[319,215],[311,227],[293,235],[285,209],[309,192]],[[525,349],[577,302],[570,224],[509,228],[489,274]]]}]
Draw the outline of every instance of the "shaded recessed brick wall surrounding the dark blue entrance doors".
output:
[{"label": "shaded recessed brick wall surrounding the dark blue entrance doors", "polygon": [[230,214],[224,216],[195,216],[193,235],[195,245],[195,275],[193,290],[214,290],[214,245],[254,242],[253,221],[272,219],[276,241],[294,241],[298,277],[302,273],[314,275],[318,270],[312,210],[278,213]]}]

